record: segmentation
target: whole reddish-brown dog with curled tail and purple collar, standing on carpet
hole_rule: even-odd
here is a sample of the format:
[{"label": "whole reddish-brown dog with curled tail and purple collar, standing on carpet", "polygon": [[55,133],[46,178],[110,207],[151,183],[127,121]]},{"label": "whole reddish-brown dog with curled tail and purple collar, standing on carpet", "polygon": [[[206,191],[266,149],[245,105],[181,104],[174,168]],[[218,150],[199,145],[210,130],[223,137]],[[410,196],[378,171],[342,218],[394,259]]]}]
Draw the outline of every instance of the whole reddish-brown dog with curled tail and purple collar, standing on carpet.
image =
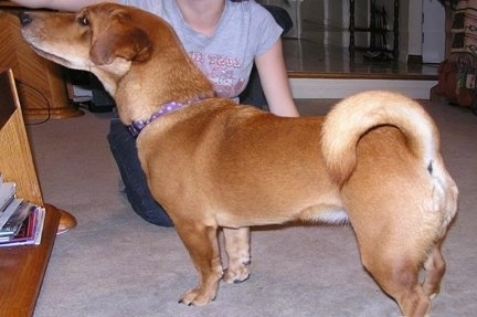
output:
[{"label": "whole reddish-brown dog with curled tail and purple collar, standing on carpet", "polygon": [[349,219],[363,265],[402,313],[428,311],[445,272],[441,245],[457,188],[437,129],[415,102],[369,92],[326,119],[277,117],[214,98],[172,29],[153,14],[109,3],[76,14],[23,13],[21,22],[40,55],[96,74],[121,121],[140,131],[151,192],[200,274],[182,303],[208,304],[222,277],[248,277],[248,226]]}]

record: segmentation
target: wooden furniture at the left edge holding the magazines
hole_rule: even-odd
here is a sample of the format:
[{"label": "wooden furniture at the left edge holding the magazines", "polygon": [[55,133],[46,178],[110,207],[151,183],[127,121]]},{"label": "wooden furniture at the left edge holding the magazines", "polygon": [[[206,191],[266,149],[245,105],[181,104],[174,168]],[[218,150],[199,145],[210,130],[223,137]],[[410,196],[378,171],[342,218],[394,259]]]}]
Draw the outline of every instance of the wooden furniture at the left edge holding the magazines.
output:
[{"label": "wooden furniture at the left edge holding the magazines", "polygon": [[0,70],[0,171],[17,194],[46,210],[40,245],[0,247],[0,316],[32,316],[65,211],[43,203],[11,70]]}]

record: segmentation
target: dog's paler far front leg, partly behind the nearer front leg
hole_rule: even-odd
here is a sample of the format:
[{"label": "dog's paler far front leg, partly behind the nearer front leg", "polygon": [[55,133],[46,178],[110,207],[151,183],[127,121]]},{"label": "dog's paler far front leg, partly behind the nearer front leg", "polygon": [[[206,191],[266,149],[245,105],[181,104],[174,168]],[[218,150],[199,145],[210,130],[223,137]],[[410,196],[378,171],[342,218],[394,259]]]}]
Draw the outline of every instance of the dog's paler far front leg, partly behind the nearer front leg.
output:
[{"label": "dog's paler far front leg, partly behind the nearer front leg", "polygon": [[225,283],[240,283],[250,275],[250,229],[223,229],[225,239],[225,252],[229,264],[224,272]]}]

